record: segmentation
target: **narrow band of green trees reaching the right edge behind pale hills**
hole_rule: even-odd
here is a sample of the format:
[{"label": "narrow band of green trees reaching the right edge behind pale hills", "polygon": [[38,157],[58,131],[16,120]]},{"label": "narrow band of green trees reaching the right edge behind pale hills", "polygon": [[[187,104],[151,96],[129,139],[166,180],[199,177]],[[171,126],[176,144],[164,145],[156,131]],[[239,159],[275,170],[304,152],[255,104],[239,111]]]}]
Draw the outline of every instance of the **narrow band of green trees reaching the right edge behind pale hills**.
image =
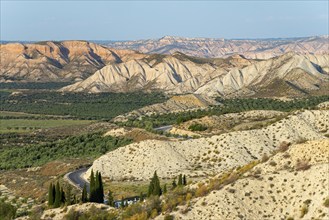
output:
[{"label": "narrow band of green trees reaching the right edge behind pale hills", "polygon": [[310,96],[307,98],[282,101],[266,98],[245,98],[245,99],[222,99],[217,98],[221,105],[196,111],[176,112],[169,114],[153,114],[142,118],[128,118],[126,122],[119,122],[119,125],[156,128],[164,125],[181,124],[183,122],[202,118],[211,115],[223,115],[227,113],[238,113],[249,110],[276,110],[290,112],[298,109],[315,109],[319,103],[329,101],[329,96]]}]

